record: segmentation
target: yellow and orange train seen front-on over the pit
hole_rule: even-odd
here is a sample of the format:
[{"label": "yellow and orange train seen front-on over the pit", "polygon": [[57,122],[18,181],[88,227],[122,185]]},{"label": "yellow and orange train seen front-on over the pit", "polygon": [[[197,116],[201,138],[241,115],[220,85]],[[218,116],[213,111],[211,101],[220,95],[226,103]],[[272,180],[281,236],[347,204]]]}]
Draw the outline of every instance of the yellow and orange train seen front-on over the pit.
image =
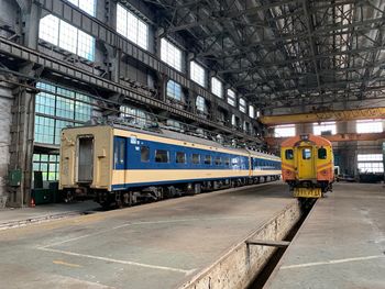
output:
[{"label": "yellow and orange train seen front-on over the pit", "polygon": [[294,136],[282,143],[282,176],[296,198],[321,198],[334,181],[331,143],[318,135]]}]

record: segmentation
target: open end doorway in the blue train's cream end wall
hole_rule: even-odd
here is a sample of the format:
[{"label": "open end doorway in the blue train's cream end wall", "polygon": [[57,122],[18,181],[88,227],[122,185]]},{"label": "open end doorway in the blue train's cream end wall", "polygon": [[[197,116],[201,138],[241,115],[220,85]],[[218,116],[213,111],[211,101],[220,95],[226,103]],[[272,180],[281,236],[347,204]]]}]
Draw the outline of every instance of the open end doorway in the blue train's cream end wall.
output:
[{"label": "open end doorway in the blue train's cream end wall", "polygon": [[77,158],[78,182],[92,182],[94,179],[94,136],[85,135],[78,138]]}]

